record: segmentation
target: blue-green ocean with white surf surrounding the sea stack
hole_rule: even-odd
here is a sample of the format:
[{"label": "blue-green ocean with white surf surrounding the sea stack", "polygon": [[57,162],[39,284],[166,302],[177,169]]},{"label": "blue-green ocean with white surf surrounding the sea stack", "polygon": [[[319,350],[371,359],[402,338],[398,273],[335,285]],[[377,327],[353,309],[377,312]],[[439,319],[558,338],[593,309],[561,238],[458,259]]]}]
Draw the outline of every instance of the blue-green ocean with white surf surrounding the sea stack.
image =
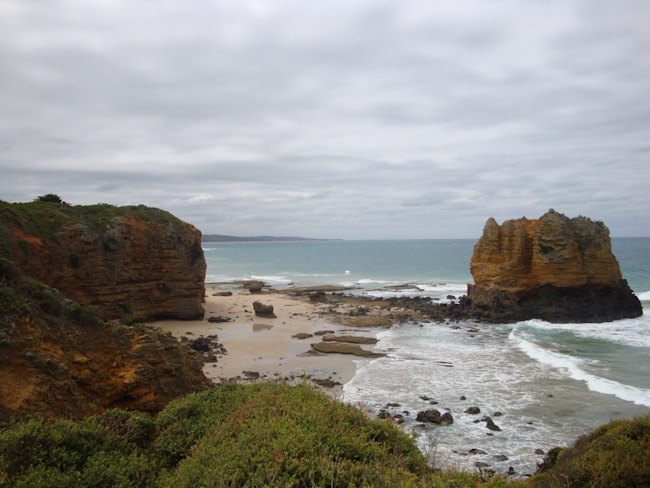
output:
[{"label": "blue-green ocean with white surf surrounding the sea stack", "polygon": [[[369,296],[465,294],[475,240],[204,243],[206,281],[258,279],[276,288],[354,286]],[[650,407],[650,238],[614,238],[623,277],[644,315],[605,324],[409,323],[377,331],[388,356],[359,360],[343,401],[403,413],[437,467],[533,473],[544,452]],[[394,285],[414,287],[394,289]],[[417,287],[417,288],[416,288]],[[426,398],[426,399],[425,399]],[[435,402],[435,406],[432,403]],[[465,413],[477,406],[481,413]],[[421,427],[417,411],[454,423]],[[501,429],[479,421],[490,416]],[[471,453],[470,453],[470,450]],[[537,451],[537,452],[536,452]]]}]

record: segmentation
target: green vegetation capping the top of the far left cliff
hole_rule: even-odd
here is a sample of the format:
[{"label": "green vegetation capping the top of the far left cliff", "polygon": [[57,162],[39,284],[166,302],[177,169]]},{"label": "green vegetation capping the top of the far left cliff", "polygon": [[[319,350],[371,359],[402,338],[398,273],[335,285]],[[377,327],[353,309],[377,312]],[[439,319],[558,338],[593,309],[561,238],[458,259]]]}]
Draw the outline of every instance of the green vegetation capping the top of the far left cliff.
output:
[{"label": "green vegetation capping the top of the far left cliff", "polygon": [[[0,201],[0,235],[16,226],[43,239],[51,239],[56,229],[68,223],[80,223],[96,230],[108,227],[119,216],[135,217],[151,224],[181,224],[169,212],[144,205],[116,207],[97,205],[68,205],[55,202],[7,203]],[[4,229],[3,229],[4,228]]]}]

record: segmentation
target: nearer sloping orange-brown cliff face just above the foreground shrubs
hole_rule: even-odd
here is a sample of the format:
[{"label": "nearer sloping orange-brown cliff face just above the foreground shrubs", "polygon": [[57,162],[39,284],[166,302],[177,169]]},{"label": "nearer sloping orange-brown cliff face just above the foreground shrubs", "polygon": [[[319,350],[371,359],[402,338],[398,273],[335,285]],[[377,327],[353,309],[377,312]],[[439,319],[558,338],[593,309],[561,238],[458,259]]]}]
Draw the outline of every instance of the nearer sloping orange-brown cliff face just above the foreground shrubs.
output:
[{"label": "nearer sloping orange-brown cliff face just above the foreground shrubs", "polygon": [[161,410],[209,381],[195,354],[143,325],[91,310],[0,259],[0,418]]}]

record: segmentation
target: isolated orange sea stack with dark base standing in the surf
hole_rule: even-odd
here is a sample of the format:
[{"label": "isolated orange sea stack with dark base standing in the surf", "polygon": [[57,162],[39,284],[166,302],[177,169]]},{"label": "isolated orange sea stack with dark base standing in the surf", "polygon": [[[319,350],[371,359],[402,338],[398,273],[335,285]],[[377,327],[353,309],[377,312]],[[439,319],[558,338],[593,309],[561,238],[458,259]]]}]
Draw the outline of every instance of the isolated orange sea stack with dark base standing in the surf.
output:
[{"label": "isolated orange sea stack with dark base standing in the surf", "polygon": [[638,317],[641,303],[622,278],[609,229],[554,210],[536,220],[490,218],[470,263],[464,304],[493,322],[607,322]]}]

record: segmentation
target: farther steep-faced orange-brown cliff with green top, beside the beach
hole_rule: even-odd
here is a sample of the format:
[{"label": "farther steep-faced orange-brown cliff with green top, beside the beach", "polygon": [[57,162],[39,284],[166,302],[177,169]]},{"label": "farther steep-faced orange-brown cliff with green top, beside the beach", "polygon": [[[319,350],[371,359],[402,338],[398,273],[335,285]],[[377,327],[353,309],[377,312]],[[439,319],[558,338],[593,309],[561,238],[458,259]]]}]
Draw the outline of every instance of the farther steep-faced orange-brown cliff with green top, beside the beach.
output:
[{"label": "farther steep-faced orange-brown cliff with green top, beside the beach", "polygon": [[0,202],[0,257],[105,319],[195,319],[201,233],[145,206]]}]

